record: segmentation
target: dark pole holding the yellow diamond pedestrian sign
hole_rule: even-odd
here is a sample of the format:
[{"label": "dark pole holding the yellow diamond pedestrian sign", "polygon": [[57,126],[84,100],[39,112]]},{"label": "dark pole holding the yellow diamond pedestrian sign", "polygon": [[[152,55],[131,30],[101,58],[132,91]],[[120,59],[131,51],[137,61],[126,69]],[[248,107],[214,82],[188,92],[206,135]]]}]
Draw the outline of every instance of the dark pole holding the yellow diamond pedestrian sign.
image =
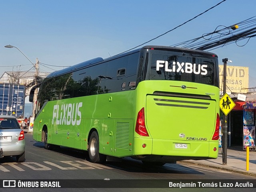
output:
[{"label": "dark pole holding the yellow diamond pedestrian sign", "polygon": [[[226,94],[226,76],[228,58],[222,59],[223,66],[223,95]],[[223,135],[222,135],[222,165],[227,165],[227,147],[228,147],[228,122],[227,116],[223,115]]]}]

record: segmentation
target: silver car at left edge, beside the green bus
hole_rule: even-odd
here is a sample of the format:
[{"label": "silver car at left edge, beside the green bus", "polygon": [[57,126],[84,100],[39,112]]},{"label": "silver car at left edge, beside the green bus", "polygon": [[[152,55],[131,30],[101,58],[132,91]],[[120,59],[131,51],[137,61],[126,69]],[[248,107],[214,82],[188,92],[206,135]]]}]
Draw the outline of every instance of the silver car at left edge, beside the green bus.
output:
[{"label": "silver car at left edge, beside the green bus", "polygon": [[25,139],[14,116],[0,115],[0,158],[5,156],[16,156],[17,162],[25,161]]}]

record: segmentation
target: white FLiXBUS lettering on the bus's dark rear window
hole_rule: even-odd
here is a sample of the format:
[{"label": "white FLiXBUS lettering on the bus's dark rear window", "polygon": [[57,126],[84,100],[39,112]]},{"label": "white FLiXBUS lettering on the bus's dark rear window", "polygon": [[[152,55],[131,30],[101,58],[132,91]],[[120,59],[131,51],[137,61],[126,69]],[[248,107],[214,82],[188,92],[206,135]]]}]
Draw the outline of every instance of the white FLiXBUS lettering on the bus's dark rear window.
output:
[{"label": "white FLiXBUS lettering on the bus's dark rear window", "polygon": [[192,63],[180,63],[180,62],[172,62],[169,65],[168,61],[156,61],[156,71],[160,71],[160,68],[163,68],[166,72],[182,72],[182,73],[194,73],[194,74],[207,74],[207,65],[201,64],[192,64]]}]

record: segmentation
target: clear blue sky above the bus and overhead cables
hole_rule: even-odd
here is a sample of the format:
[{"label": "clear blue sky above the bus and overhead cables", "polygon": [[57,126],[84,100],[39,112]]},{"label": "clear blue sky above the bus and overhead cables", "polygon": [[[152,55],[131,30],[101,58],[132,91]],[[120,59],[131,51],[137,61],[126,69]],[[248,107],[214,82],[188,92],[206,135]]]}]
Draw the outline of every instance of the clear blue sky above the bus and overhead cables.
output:
[{"label": "clear blue sky above the bus and overhead cables", "polygon": [[[38,58],[41,72],[122,53],[194,18],[222,0],[8,0],[0,1],[0,76],[28,71]],[[145,45],[170,46],[256,16],[254,0],[226,0],[212,10]],[[239,44],[243,45],[240,41]],[[13,45],[16,48],[6,48]],[[211,52],[219,64],[249,67],[256,87],[256,38]],[[142,47],[142,46],[141,46]],[[54,67],[54,66],[60,67]],[[10,66],[10,67],[5,67]],[[33,71],[33,70],[31,70]]]}]

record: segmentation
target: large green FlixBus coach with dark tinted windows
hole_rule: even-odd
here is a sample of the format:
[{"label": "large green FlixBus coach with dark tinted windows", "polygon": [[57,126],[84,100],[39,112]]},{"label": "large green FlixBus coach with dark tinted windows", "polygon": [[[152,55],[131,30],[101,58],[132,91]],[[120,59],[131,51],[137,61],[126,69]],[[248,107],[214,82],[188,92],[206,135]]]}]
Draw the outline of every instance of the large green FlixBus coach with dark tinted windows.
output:
[{"label": "large green FlixBus coach with dark tinted windows", "polygon": [[144,46],[52,72],[40,85],[33,138],[164,165],[218,156],[219,77],[214,53]]}]

